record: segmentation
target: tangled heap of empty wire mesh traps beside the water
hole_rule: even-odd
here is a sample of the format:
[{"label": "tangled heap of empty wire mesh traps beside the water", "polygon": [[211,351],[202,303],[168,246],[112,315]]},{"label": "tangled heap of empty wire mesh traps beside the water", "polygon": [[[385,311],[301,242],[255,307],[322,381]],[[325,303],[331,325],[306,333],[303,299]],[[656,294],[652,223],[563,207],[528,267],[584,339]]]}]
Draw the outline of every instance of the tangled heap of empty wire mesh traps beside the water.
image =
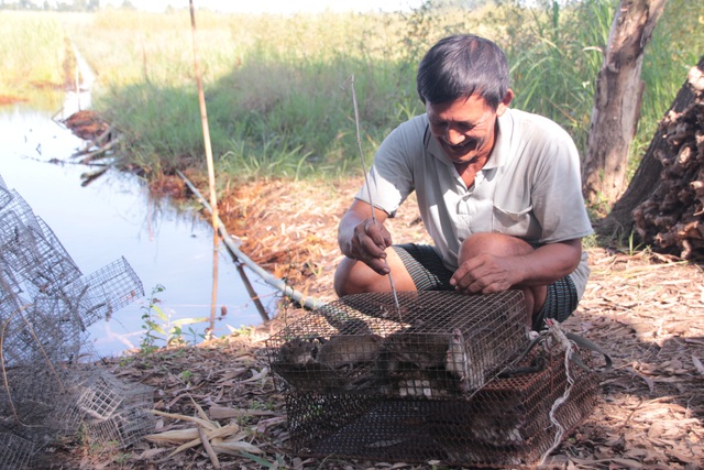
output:
[{"label": "tangled heap of empty wire mesh traps beside the water", "polygon": [[0,178],[0,469],[30,467],[81,423],[92,440],[120,446],[151,429],[151,387],[91,368],[98,358],[87,330],[143,295],[124,258],[84,275]]}]

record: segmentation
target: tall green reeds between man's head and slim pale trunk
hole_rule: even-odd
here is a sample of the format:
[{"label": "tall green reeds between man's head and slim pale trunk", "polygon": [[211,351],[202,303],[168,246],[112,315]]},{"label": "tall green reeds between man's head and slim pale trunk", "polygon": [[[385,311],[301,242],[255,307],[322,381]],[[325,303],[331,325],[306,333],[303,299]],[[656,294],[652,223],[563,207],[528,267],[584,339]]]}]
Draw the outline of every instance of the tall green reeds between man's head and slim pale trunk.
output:
[{"label": "tall green reeds between man's head and slim pale trunk", "polygon": [[541,9],[514,4],[498,18],[510,31],[521,31],[497,40],[512,66],[514,106],[562,124],[583,154],[614,2],[543,3]]}]

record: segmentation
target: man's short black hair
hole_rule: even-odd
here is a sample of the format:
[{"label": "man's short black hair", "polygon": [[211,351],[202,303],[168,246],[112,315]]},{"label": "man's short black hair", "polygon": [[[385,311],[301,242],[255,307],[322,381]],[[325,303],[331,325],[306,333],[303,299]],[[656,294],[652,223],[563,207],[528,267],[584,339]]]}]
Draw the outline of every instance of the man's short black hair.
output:
[{"label": "man's short black hair", "polygon": [[424,103],[476,94],[496,109],[509,87],[506,55],[492,41],[473,34],[444,37],[420,62],[416,87]]}]

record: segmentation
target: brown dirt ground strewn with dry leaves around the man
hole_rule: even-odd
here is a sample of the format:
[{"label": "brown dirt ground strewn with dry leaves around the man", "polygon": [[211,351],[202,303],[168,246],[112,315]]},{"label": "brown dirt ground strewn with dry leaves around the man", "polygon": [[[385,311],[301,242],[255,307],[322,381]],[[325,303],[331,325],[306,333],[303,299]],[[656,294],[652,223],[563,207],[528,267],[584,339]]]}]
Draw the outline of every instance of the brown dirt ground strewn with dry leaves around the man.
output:
[{"label": "brown dirt ground strewn with dry leaves around the man", "polygon": [[[337,225],[360,183],[361,178],[315,185],[270,181],[232,187],[219,201],[219,216],[254,262],[285,278],[292,288],[329,302],[336,298],[332,273],[340,261]],[[413,200],[391,229],[395,241],[427,240]],[[542,468],[704,468],[702,266],[647,250],[591,248],[588,253],[592,275],[586,293],[563,327],[601,346],[614,367],[600,373],[594,412],[562,440]],[[127,449],[67,444],[50,456],[52,467],[444,468],[439,462],[301,459],[292,455],[285,395],[268,371],[265,341],[304,315],[309,313],[280,298],[276,317],[251,331],[197,347],[136,353],[110,364],[121,379],[155,387],[154,408],[167,414],[158,416],[155,434],[189,428],[195,433],[197,425],[184,416],[197,416],[200,407],[207,426],[239,439],[242,447],[210,449],[209,453],[196,438],[193,447],[178,450],[193,435],[170,441],[144,439]]]}]

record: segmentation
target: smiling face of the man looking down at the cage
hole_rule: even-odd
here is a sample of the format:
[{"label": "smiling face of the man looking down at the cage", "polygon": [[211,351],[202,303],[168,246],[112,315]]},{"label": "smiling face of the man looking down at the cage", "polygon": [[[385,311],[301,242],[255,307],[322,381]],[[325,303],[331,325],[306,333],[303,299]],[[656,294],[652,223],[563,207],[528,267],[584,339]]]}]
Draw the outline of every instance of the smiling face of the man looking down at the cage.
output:
[{"label": "smiling face of the man looking down at the cage", "polygon": [[496,110],[476,95],[452,102],[427,102],[430,132],[454,163],[485,163],[496,140],[496,118],[506,112],[510,98]]}]

